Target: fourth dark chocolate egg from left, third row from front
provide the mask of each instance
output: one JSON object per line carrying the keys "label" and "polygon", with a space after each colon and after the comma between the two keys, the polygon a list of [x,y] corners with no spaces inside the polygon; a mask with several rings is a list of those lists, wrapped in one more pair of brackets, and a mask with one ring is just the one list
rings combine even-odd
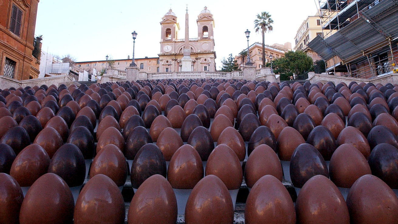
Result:
{"label": "fourth dark chocolate egg from left, third row from front", "polygon": [[213,138],[203,126],[193,129],[191,135],[189,135],[188,144],[198,151],[202,161],[207,161],[211,151],[214,149]]}

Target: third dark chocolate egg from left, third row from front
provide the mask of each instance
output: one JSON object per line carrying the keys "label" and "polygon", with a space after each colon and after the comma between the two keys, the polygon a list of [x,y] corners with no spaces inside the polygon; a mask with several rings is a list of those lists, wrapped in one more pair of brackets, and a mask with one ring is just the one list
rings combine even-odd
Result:
{"label": "third dark chocolate egg from left, third row from front", "polygon": [[127,160],[133,160],[140,148],[147,143],[152,143],[152,138],[150,137],[148,131],[146,131],[145,127],[142,126],[135,127],[130,132],[126,141]]}

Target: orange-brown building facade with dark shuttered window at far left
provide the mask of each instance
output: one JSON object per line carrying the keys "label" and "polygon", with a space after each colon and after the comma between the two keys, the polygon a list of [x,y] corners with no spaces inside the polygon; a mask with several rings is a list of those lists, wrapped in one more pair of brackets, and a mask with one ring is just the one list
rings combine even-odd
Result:
{"label": "orange-brown building facade with dark shuttered window at far left", "polygon": [[0,1],[0,75],[16,80],[39,77],[32,56],[39,0]]}

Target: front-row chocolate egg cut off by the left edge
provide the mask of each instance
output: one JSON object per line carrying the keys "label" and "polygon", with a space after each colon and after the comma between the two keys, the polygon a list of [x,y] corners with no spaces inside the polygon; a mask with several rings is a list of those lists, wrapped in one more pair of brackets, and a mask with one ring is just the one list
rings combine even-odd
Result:
{"label": "front-row chocolate egg cut off by the left edge", "polygon": [[0,220],[18,224],[23,194],[18,182],[6,173],[0,173]]}

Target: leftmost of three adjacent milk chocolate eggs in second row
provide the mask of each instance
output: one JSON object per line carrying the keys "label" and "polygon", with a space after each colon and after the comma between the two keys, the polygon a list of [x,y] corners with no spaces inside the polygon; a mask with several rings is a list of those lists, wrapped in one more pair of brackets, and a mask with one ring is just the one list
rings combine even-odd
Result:
{"label": "leftmost of three adjacent milk chocolate eggs in second row", "polygon": [[199,153],[185,144],[173,154],[167,169],[167,179],[174,189],[193,189],[203,173]]}

